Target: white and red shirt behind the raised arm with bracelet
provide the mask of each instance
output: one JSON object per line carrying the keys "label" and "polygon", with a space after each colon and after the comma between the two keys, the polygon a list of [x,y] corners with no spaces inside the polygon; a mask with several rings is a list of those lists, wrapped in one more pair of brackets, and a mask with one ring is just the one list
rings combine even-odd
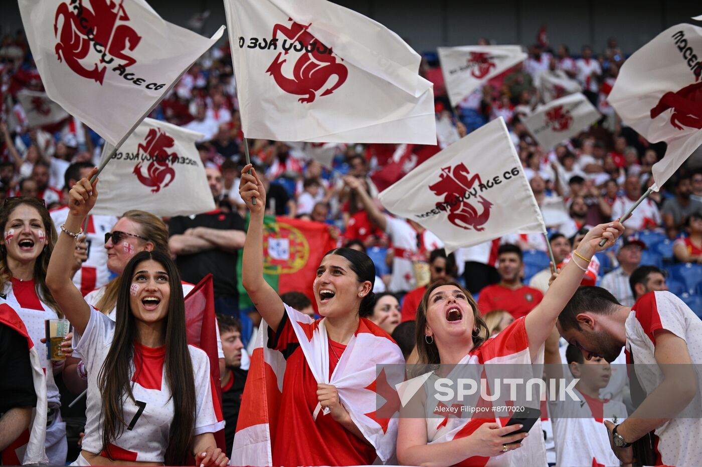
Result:
{"label": "white and red shirt behind the raised arm with bracelet", "polygon": [[[51,210],[51,220],[57,232],[66,222],[69,208],[63,207]],[[81,269],[73,276],[73,283],[86,295],[88,292],[102,287],[110,280],[110,271],[107,269],[107,250],[105,250],[105,234],[112,231],[117,222],[115,216],[88,215],[87,225],[83,226],[88,241],[88,259]]]}

